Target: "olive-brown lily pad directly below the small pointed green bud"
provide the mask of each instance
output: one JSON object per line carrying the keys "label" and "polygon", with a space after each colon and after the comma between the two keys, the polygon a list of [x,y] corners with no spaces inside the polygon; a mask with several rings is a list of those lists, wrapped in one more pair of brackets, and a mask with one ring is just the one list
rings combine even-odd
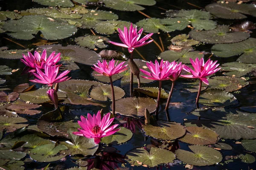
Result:
{"label": "olive-brown lily pad directly below the small pointed green bud", "polygon": [[176,122],[157,121],[157,124],[143,125],[145,134],[156,139],[175,140],[186,133],[186,129]]}

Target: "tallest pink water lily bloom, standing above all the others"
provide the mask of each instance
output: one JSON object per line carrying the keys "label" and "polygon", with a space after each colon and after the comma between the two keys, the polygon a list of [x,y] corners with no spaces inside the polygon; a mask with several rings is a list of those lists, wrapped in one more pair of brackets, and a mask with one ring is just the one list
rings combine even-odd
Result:
{"label": "tallest pink water lily bloom, standing above all the others", "polygon": [[137,32],[137,26],[134,28],[132,26],[132,23],[131,23],[129,31],[128,31],[127,27],[125,26],[124,32],[119,28],[118,28],[118,32],[119,32],[119,38],[123,42],[123,44],[118,43],[118,42],[113,42],[113,41],[109,41],[109,42],[113,45],[128,48],[129,53],[132,53],[134,48],[147,45],[148,43],[153,41],[153,40],[149,40],[146,42],[146,40],[148,40],[154,33],[145,35],[145,37],[140,39],[140,36],[143,32],[143,28],[141,28],[140,31]]}

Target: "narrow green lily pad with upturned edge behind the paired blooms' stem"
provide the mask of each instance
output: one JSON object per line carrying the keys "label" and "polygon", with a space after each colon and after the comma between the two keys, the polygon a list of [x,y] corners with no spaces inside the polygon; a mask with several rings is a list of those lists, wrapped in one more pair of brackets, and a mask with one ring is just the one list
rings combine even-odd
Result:
{"label": "narrow green lily pad with upturned edge behind the paired blooms' stem", "polygon": [[[138,91],[139,93],[143,93],[147,96],[151,97],[157,97],[158,96],[158,90],[159,88],[155,87],[141,87],[141,88],[134,88],[135,91]],[[166,91],[162,88],[161,89],[161,98],[162,99],[168,99],[169,94],[166,93]]]}

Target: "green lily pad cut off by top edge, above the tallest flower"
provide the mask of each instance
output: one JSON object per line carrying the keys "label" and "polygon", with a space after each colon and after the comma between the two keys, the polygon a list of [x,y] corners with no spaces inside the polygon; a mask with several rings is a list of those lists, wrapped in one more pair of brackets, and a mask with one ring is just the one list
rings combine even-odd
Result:
{"label": "green lily pad cut off by top edge, above the tallest flower", "polygon": [[155,0],[102,0],[108,8],[113,8],[120,11],[141,11],[143,8],[140,5],[153,6]]}

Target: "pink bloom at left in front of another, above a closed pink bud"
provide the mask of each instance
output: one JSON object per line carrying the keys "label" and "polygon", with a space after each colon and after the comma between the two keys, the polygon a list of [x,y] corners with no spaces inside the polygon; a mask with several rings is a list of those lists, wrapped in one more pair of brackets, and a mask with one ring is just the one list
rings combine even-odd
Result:
{"label": "pink bloom at left in front of another, above a closed pink bud", "polygon": [[[52,86],[57,82],[64,82],[71,77],[66,76],[70,71],[63,71],[58,77],[59,67],[56,65],[48,66],[47,64],[44,67],[44,72],[39,68],[36,68],[37,73],[33,72],[34,76],[37,79],[30,80],[31,82],[37,82],[41,84],[46,84],[48,86]],[[66,76],[66,77],[65,77]]]}

